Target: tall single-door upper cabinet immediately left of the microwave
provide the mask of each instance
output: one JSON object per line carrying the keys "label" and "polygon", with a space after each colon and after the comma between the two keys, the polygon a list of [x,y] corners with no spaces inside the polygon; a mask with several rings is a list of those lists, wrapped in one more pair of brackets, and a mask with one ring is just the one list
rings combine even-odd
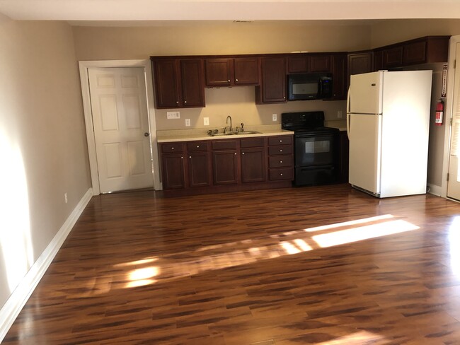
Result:
{"label": "tall single-door upper cabinet immediately left of the microwave", "polygon": [[263,57],[260,59],[261,85],[255,86],[255,103],[286,102],[286,59]]}

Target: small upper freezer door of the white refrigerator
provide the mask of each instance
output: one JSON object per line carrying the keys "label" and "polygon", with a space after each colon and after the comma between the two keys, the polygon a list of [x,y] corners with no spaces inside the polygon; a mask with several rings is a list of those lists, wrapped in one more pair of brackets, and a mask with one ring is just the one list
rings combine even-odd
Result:
{"label": "small upper freezer door of the white refrigerator", "polygon": [[350,76],[347,112],[381,114],[384,72]]}

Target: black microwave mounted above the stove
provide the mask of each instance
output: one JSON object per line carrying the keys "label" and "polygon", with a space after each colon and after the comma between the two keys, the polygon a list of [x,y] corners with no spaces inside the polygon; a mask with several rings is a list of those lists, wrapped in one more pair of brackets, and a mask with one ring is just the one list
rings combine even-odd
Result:
{"label": "black microwave mounted above the stove", "polygon": [[328,73],[288,74],[288,100],[321,100],[332,97],[332,75]]}

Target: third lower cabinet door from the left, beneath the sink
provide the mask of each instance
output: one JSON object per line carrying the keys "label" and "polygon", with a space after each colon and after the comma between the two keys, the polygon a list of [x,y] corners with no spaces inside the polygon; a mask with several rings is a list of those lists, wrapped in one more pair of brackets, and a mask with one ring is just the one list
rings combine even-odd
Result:
{"label": "third lower cabinet door from the left, beneath the sink", "polygon": [[214,185],[238,183],[238,156],[236,156],[236,151],[213,151],[212,169],[214,172]]}

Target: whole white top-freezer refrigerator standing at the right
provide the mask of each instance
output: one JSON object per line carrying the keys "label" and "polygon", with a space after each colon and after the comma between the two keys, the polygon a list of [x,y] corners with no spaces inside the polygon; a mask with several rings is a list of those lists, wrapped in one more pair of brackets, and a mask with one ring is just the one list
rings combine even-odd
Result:
{"label": "whole white top-freezer refrigerator standing at the right", "polygon": [[349,182],[375,197],[425,194],[432,71],[350,78]]}

